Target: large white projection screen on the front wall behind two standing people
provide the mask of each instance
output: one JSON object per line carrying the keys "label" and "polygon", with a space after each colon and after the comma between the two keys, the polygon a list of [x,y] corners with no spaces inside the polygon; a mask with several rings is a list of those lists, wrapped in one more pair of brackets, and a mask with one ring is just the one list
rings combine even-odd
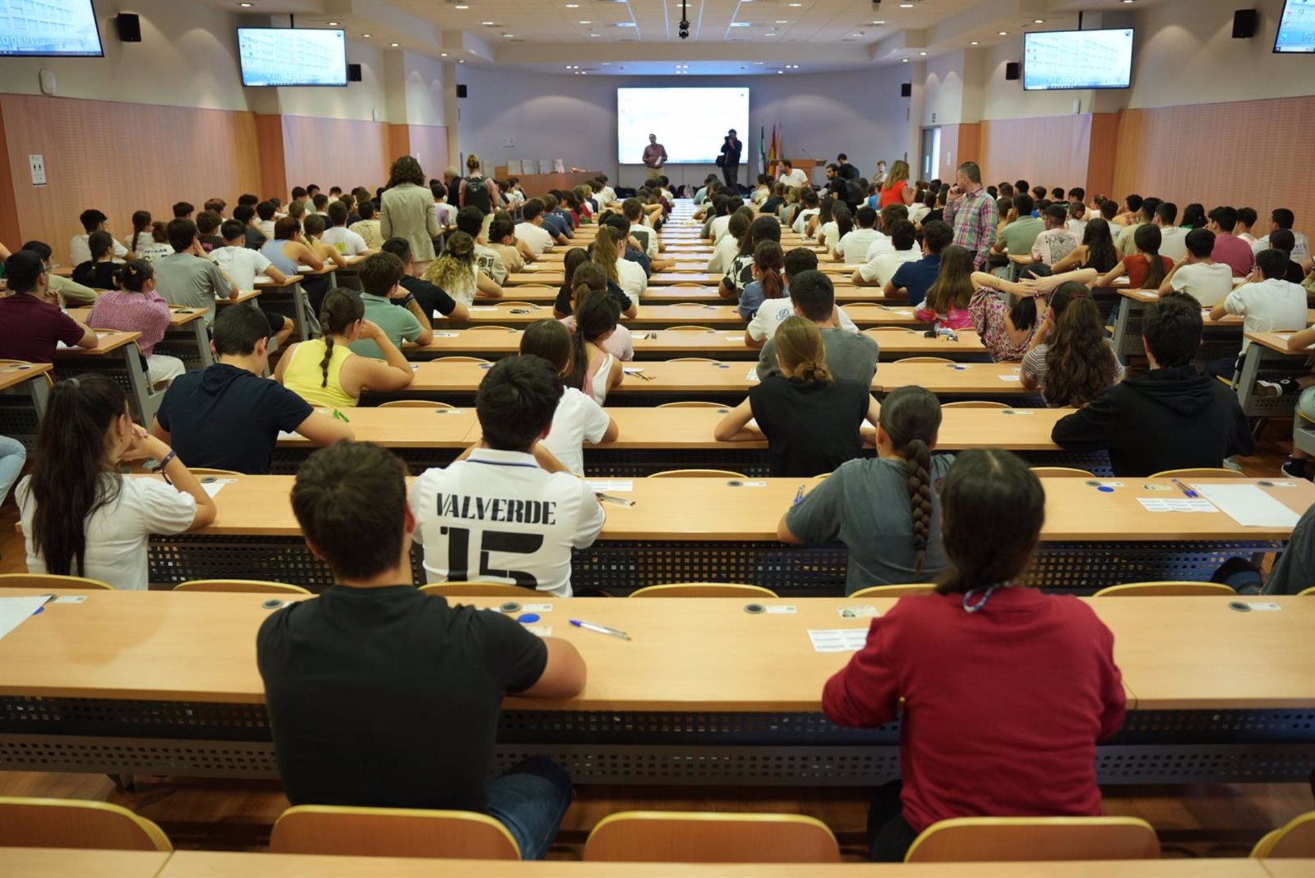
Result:
{"label": "large white projection screen on the front wall behind two standing people", "polygon": [[713,164],[732,127],[744,145],[743,162],[750,154],[748,88],[617,89],[617,160],[622,164],[643,160],[650,134],[667,147],[667,164]]}

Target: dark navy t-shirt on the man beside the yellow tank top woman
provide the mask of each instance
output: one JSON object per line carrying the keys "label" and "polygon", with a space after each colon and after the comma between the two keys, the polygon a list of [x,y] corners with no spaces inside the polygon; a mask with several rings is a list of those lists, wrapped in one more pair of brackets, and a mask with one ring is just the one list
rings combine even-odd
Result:
{"label": "dark navy t-shirt on the man beside the yellow tank top woman", "polygon": [[313,413],[277,381],[216,363],[174,379],[155,419],[188,467],[263,476],[279,431],[295,431]]}

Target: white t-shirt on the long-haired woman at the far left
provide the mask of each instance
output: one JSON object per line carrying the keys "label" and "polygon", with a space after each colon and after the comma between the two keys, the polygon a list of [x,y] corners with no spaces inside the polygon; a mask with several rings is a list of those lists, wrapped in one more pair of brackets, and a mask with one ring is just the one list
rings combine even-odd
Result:
{"label": "white t-shirt on the long-haired woman at the far left", "polygon": [[[196,520],[196,498],[160,478],[132,478],[107,473],[118,480],[118,498],[101,506],[87,519],[87,552],[83,576],[108,582],[116,589],[145,591],[149,585],[146,542],[151,534],[181,534]],[[45,573],[46,561],[33,549],[32,522],[37,503],[30,493],[32,477],[18,482],[14,498],[22,519],[22,539],[28,549],[28,572]],[[76,573],[76,570],[75,570]]]}

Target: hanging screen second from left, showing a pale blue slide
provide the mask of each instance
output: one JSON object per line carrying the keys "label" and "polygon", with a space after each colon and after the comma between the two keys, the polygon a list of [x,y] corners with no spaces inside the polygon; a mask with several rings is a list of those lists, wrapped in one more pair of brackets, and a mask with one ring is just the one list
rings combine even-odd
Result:
{"label": "hanging screen second from left, showing a pale blue slide", "polygon": [[243,85],[346,85],[342,30],[238,28]]}

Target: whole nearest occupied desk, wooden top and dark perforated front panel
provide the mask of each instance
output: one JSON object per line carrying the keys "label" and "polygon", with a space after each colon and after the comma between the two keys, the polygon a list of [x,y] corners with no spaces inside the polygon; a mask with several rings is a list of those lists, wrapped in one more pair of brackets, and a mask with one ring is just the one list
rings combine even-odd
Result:
{"label": "whole nearest occupied desk, wooden top and dark perforated front panel", "polygon": [[[0,640],[0,765],[276,777],[255,664],[268,595],[82,594],[85,602],[49,603]],[[1130,708],[1099,748],[1103,783],[1302,781],[1315,768],[1315,601],[1265,599],[1272,611],[1233,609],[1260,603],[1243,598],[1089,602],[1114,632]],[[568,701],[509,698],[497,770],[551,754],[579,783],[869,786],[898,777],[898,722],[838,728],[819,712],[823,683],[851,653],[817,652],[809,635],[864,631],[865,619],[840,612],[888,612],[894,599],[542,603],[540,624],[580,649],[589,680]]]}

